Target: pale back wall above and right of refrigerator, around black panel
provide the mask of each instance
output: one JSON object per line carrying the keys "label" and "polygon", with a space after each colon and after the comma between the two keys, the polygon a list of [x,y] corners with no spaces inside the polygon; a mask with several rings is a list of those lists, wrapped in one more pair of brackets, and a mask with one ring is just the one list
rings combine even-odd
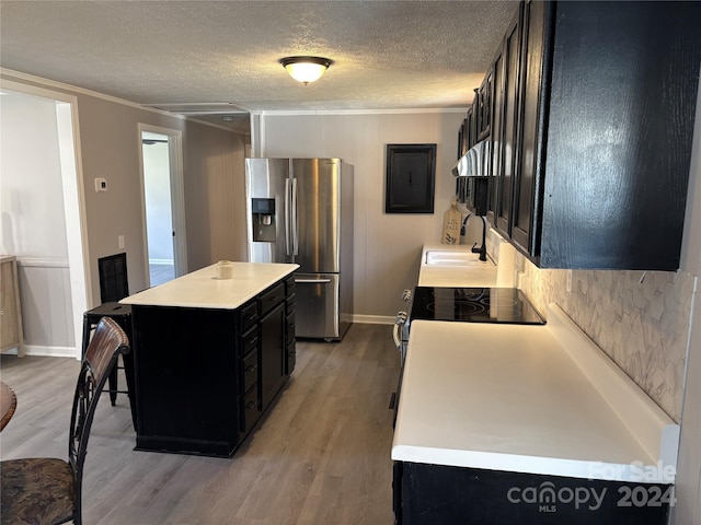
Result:
{"label": "pale back wall above and right of refrigerator, around black panel", "polygon": [[[416,283],[422,245],[440,242],[443,214],[455,195],[450,168],[463,118],[464,109],[261,117],[258,156],[330,156],[354,165],[356,320],[393,320],[401,291]],[[386,148],[392,143],[437,144],[433,214],[384,213]]]}

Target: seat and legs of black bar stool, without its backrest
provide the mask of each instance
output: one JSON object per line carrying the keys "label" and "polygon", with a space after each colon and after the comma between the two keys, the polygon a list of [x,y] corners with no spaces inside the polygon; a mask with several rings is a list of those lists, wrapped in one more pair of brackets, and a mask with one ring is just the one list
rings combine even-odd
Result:
{"label": "seat and legs of black bar stool, without its backrest", "polygon": [[[100,323],[100,319],[103,317],[114,319],[114,322],[126,332],[129,341],[131,340],[131,306],[128,304],[119,304],[117,302],[104,303],[83,314],[83,355],[88,349],[92,330],[97,326],[97,323]],[[134,347],[131,347],[131,351],[129,351],[129,353],[122,355],[122,361],[124,364],[124,375],[127,380],[127,389],[118,389],[117,366],[115,366],[110,374],[110,401],[114,407],[117,400],[117,394],[127,394],[129,397],[129,406],[131,408],[131,421],[134,422],[134,429],[136,430],[136,404],[134,401]]]}

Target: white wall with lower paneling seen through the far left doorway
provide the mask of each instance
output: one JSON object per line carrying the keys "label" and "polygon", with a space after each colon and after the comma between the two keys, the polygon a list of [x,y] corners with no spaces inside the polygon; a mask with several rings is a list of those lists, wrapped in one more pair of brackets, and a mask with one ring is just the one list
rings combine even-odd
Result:
{"label": "white wall with lower paneling seen through the far left doorway", "polygon": [[71,353],[76,342],[56,102],[2,95],[0,133],[0,249],[18,257],[27,352]]}

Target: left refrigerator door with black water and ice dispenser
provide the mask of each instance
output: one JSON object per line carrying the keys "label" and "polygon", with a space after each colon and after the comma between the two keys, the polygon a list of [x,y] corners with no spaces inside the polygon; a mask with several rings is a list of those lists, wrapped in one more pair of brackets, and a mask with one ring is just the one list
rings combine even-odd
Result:
{"label": "left refrigerator door with black water and ice dispenser", "polygon": [[291,262],[289,159],[246,159],[246,246],[251,262]]}

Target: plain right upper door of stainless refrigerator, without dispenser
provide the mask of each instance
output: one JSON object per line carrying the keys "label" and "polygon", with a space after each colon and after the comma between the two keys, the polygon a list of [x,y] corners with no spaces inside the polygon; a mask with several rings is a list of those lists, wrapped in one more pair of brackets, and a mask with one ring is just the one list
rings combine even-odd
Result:
{"label": "plain right upper door of stainless refrigerator, without dispenser", "polygon": [[300,271],[340,271],[340,159],[292,159],[297,196],[292,244]]}

